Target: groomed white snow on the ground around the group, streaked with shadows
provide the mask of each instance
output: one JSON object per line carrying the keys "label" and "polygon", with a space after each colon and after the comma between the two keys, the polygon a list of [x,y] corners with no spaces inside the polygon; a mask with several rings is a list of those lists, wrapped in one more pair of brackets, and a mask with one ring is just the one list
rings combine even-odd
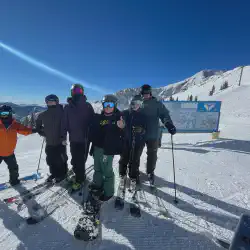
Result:
{"label": "groomed white snow on the ground around the group, streaked with shadows", "polygon": [[[55,199],[56,210],[36,225],[26,225],[23,221],[28,216],[26,208],[17,212],[15,205],[7,206],[0,201],[0,249],[221,249],[212,235],[230,242],[240,215],[250,211],[249,96],[250,84],[244,80],[241,87],[232,87],[213,97],[222,100],[219,139],[212,140],[211,134],[174,136],[178,204],[173,202],[171,140],[165,134],[155,172],[157,196],[143,182],[146,152],[142,155],[141,218],[129,214],[130,194],[127,192],[124,210],[116,211],[113,200],[103,205],[100,238],[87,243],[73,236],[81,214],[82,198],[78,194],[69,196],[65,192]],[[20,176],[36,171],[41,144],[38,135],[19,137],[16,157]],[[113,164],[116,187],[118,160],[119,157],[115,157]],[[86,167],[92,169],[92,163],[89,156]],[[7,167],[3,163],[0,169],[0,182],[4,182],[8,180]],[[41,172],[48,173],[44,152]],[[0,199],[34,185],[36,183],[30,181],[16,190],[1,191]],[[53,187],[38,196],[36,202],[48,204],[58,188]]]}

